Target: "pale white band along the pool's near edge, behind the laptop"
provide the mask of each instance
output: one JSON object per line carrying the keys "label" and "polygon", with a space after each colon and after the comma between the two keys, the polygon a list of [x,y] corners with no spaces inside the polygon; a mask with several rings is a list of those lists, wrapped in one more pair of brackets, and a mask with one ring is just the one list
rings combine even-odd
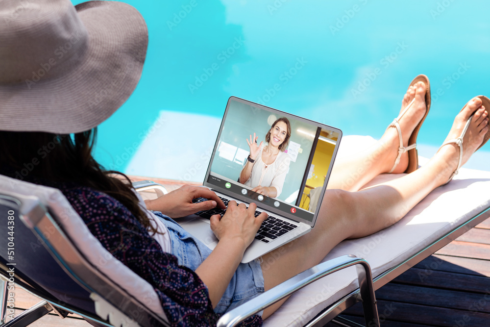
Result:
{"label": "pale white band along the pool's near edge, behind the laptop", "polygon": [[[125,173],[202,182],[220,124],[221,118],[160,111],[158,119],[131,158]],[[418,144],[417,150],[419,156],[430,158],[438,147]],[[490,171],[490,152],[477,151],[465,164],[465,168]]]}

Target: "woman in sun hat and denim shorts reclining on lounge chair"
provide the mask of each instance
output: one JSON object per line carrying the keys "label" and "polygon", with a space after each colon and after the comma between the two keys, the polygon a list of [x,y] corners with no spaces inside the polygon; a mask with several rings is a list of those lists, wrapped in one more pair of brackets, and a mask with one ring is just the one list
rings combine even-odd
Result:
{"label": "woman in sun hat and denim shorts reclining on lounge chair", "polygon": [[[473,98],[440,150],[418,168],[412,144],[429,111],[430,90],[427,78],[417,76],[381,139],[336,162],[325,192],[329,206],[320,208],[314,230],[294,246],[264,255],[267,265],[241,264],[267,216],[254,217],[255,204],[246,209],[230,201],[221,219],[211,217],[220,240],[211,252],[169,217],[224,208],[216,194],[184,186],[147,201],[146,208],[129,183],[104,171],[91,155],[96,126],[127,100],[141,76],[143,18],[120,2],[36,2],[19,11],[7,1],[0,12],[0,174],[59,188],[102,245],[154,286],[174,325],[213,325],[224,312],[316,265],[342,240],[394,224],[450,181],[490,136],[490,102]],[[389,172],[409,174],[360,190]],[[196,197],[210,200],[192,203]],[[260,325],[281,303],[247,323]]]}

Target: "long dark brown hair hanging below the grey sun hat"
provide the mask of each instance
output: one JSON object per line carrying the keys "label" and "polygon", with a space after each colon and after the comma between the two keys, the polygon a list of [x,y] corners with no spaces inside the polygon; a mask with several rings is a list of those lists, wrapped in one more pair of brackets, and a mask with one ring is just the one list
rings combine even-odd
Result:
{"label": "long dark brown hair hanging below the grey sun hat", "polygon": [[139,206],[129,178],[104,170],[92,156],[96,136],[97,127],[75,134],[0,131],[0,174],[96,189],[120,201],[146,228],[157,232]]}

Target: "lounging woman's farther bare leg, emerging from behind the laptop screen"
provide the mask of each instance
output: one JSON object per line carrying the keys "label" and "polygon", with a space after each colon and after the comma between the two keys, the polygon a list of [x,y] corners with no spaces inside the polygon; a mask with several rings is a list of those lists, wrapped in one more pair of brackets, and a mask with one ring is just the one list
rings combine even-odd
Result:
{"label": "lounging woman's farther bare leg, emerging from behind the laptop screen", "polygon": [[[423,82],[418,82],[410,86],[403,97],[400,112],[415,98],[414,104],[399,122],[404,147],[409,145],[410,135],[425,114],[425,90],[426,85]],[[335,161],[327,188],[358,191],[374,177],[388,173],[392,169],[398,155],[398,147],[398,132],[395,127],[388,127],[381,139],[371,147],[348,157],[338,158]],[[393,173],[403,173],[407,166],[408,153],[405,152]]]}

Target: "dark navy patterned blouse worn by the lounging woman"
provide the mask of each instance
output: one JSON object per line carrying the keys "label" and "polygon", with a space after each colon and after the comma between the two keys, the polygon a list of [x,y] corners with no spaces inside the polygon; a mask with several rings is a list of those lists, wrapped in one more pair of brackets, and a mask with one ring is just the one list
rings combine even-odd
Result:
{"label": "dark navy patterned blouse worn by the lounging woman", "polygon": [[[46,184],[46,183],[45,183]],[[153,239],[136,217],[110,196],[88,187],[52,184],[60,189],[102,245],[155,288],[172,326],[216,326],[208,290],[196,273]],[[241,326],[262,326],[253,316]]]}

